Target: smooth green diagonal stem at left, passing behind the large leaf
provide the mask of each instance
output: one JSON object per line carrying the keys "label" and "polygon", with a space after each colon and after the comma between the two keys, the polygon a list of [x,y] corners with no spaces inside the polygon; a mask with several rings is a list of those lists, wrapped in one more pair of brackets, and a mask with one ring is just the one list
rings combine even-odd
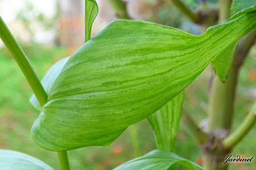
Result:
{"label": "smooth green diagonal stem at left, passing behind the large leaf", "polygon": [[[18,42],[14,39],[14,36],[11,34],[10,30],[6,26],[5,22],[0,16],[0,38],[5,44],[6,48],[13,55],[15,61],[18,63],[20,70],[26,77],[28,84],[32,88],[36,99],[38,99],[40,105],[43,107],[44,104],[47,103],[47,94],[44,90],[42,84],[40,83],[38,76],[36,76],[33,67],[28,61],[26,54],[23,52],[22,48],[20,48]],[[67,152],[58,152],[58,156],[60,160],[61,170],[69,169]]]}

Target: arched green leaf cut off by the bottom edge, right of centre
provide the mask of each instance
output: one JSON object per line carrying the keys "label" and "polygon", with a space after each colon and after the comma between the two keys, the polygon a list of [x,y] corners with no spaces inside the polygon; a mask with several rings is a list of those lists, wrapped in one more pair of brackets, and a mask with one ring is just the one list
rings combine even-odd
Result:
{"label": "arched green leaf cut off by the bottom edge, right of centre", "polygon": [[139,158],[130,160],[114,170],[168,170],[175,164],[181,164],[187,170],[203,170],[204,168],[168,151],[154,150]]}

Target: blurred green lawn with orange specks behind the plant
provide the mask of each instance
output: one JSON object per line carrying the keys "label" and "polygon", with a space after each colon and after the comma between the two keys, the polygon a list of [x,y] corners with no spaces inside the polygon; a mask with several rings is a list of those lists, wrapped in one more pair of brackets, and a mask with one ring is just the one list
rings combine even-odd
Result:
{"label": "blurred green lawn with orange specks behind the plant", "polygon": [[[66,57],[67,49],[57,46],[42,46],[32,44],[23,46],[24,52],[34,66],[39,79],[42,79],[48,68]],[[250,110],[256,97],[256,48],[246,59],[240,74],[238,94],[236,96],[236,115],[233,129],[241,122]],[[206,84],[212,68],[209,66],[185,91],[184,106],[193,118],[201,124],[207,118],[208,90]],[[30,128],[38,117],[39,112],[34,109],[28,100],[32,91],[26,79],[16,65],[7,49],[0,49],[0,148],[16,150],[35,156],[36,158],[59,169],[55,152],[43,150],[32,141]],[[254,95],[253,92],[254,91]],[[135,124],[138,131],[139,146],[142,154],[155,149],[154,135],[146,120]],[[250,134],[234,149],[233,156],[255,156],[256,130]],[[201,164],[201,152],[192,139],[184,132],[183,126],[177,134],[176,153],[181,157]],[[68,151],[71,169],[113,169],[118,165],[134,158],[129,131],[125,131],[112,145],[106,147],[85,147]],[[256,161],[232,165],[230,169],[253,169]]]}

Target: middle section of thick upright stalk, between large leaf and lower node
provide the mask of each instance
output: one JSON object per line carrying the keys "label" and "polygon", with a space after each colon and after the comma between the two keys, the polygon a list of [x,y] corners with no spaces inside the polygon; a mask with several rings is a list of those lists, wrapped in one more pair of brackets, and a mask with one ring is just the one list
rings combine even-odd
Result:
{"label": "middle section of thick upright stalk, between large leaf and lower node", "polygon": [[209,99],[209,131],[230,130],[234,113],[237,77],[238,70],[232,63],[225,84],[217,76],[214,78]]}

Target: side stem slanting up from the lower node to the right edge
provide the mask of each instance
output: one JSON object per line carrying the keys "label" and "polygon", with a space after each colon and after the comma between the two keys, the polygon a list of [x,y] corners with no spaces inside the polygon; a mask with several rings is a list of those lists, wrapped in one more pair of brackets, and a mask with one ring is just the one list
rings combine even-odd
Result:
{"label": "side stem slanting up from the lower node to the right edge", "polygon": [[247,133],[249,133],[250,129],[253,128],[253,125],[256,122],[256,103],[251,109],[249,115],[243,120],[243,122],[238,126],[238,128],[234,131],[234,133],[230,134],[223,141],[223,147],[225,149],[233,148],[238,142],[241,141],[243,137]]}

